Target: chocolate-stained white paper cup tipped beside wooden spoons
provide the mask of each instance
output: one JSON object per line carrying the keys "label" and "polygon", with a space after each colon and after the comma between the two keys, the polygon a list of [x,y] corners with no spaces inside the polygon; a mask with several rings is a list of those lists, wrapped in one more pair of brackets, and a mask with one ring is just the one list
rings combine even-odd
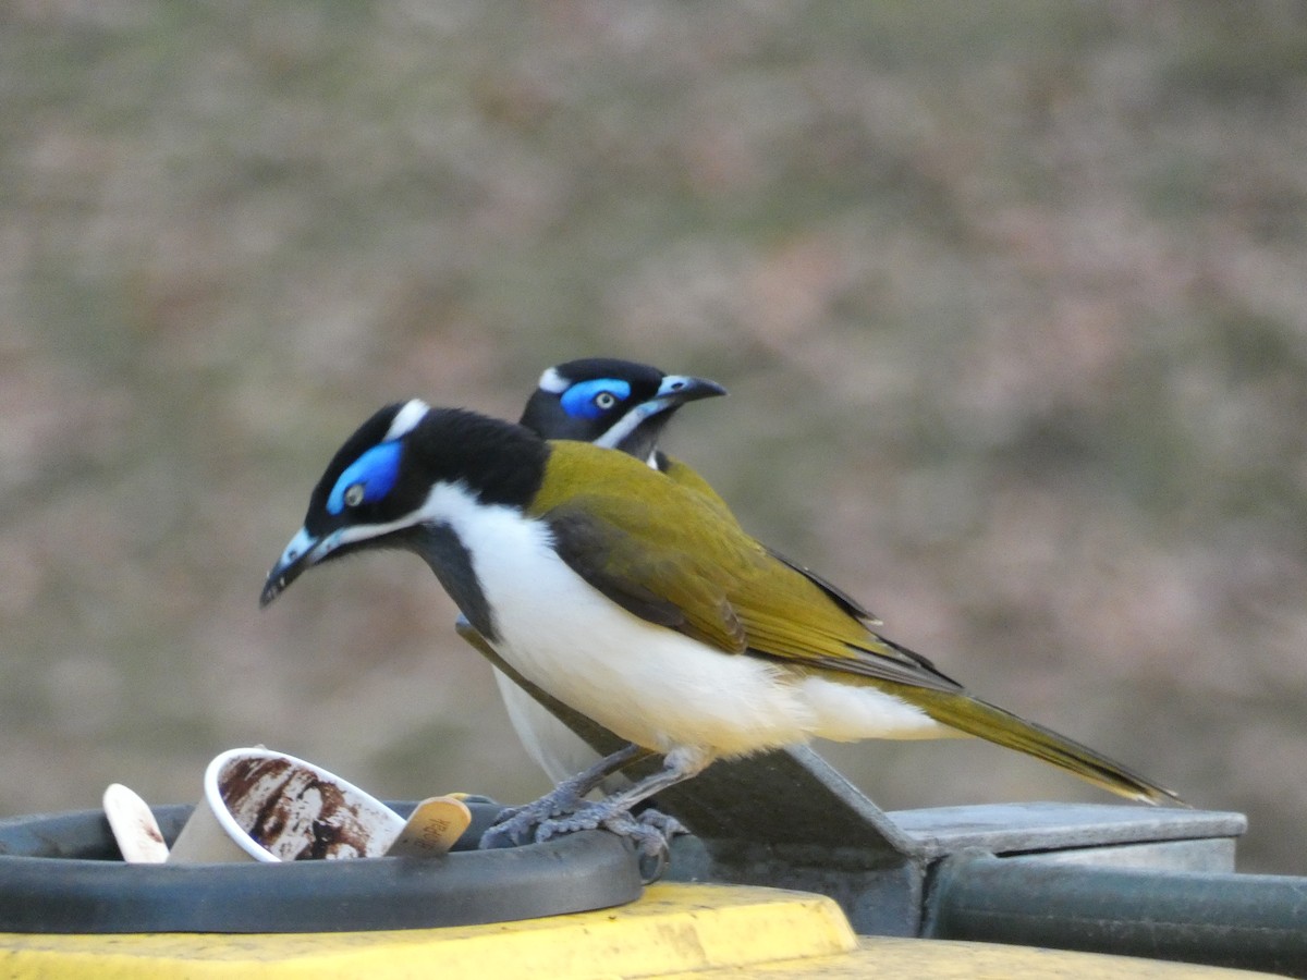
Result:
{"label": "chocolate-stained white paper cup tipped beside wooden spoons", "polygon": [[173,864],[380,857],[404,818],[311,762],[233,749],[204,771],[204,796],[169,852]]}

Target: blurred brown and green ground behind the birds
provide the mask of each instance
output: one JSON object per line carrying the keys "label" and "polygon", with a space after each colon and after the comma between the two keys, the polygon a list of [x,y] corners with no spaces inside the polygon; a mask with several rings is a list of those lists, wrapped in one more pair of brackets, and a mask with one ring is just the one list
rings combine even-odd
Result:
{"label": "blurred brown and green ground behind the birds", "polygon": [[416,559],[256,597],[378,405],[613,354],[729,387],[672,448],[891,636],[1307,873],[1297,0],[8,0],[0,114],[0,814],[250,742],[544,791]]}

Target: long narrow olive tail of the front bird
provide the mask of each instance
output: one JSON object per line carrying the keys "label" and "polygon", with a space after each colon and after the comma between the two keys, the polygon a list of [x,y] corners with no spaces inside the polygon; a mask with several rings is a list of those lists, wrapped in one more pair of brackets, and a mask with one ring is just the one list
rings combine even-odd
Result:
{"label": "long narrow olive tail of the front bird", "polygon": [[920,691],[914,700],[931,717],[949,728],[1034,755],[1108,792],[1154,806],[1188,806],[1170,789],[1150,783],[1089,746],[978,698],[946,691]]}

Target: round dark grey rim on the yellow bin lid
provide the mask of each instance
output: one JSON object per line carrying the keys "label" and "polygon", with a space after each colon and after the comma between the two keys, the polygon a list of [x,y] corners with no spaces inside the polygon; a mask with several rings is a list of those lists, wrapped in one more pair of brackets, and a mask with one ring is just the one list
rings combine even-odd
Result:
{"label": "round dark grey rim on the yellow bin lid", "polygon": [[[473,849],[284,864],[127,865],[98,810],[0,821],[0,932],[423,929],[609,908],[642,894],[634,849],[614,835],[476,851],[499,808],[471,808],[457,847]],[[165,838],[190,810],[154,809]]]}

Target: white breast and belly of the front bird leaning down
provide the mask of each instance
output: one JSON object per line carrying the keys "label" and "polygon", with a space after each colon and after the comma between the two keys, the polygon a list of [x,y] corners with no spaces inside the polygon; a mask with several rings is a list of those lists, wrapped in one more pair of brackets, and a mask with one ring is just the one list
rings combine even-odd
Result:
{"label": "white breast and belly of the front bird leaning down", "polygon": [[423,510],[468,549],[494,610],[501,656],[627,741],[660,753],[693,746],[715,758],[812,736],[948,733],[874,689],[804,681],[627,613],[567,567],[545,524],[514,508],[477,504],[464,489],[442,485]]}

